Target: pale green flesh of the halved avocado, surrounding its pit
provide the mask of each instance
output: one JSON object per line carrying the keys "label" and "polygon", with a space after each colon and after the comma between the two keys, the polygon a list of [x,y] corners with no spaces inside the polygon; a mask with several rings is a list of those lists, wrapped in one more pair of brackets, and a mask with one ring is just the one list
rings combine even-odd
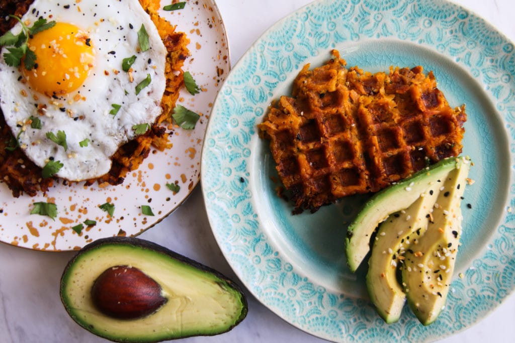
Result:
{"label": "pale green flesh of the halved avocado, surrounding its pit", "polygon": [[[107,268],[129,265],[162,287],[155,313],[117,319],[95,308],[91,288]],[[156,342],[229,331],[247,314],[245,296],[230,280],[164,247],[135,238],[109,238],[84,247],[61,278],[61,300],[83,328],[113,341]]]}

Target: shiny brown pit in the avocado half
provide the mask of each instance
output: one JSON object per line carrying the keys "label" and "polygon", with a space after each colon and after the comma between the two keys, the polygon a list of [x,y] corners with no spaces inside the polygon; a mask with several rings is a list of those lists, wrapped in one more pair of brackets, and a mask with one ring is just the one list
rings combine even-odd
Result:
{"label": "shiny brown pit in the avocado half", "polygon": [[167,299],[155,280],[140,269],[117,265],[94,281],[91,299],[102,313],[116,319],[138,319],[161,308]]}

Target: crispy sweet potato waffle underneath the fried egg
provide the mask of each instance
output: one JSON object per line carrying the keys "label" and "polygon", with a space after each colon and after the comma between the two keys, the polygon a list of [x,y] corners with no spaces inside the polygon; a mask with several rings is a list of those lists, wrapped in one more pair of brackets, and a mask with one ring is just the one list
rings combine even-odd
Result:
{"label": "crispy sweet potato waffle underneath the fried egg", "polygon": [[[0,0],[0,15],[6,18],[9,14],[22,16],[33,0],[4,1]],[[120,147],[112,156],[111,170],[98,178],[87,180],[85,186],[94,183],[119,185],[124,182],[126,174],[138,169],[148,156],[152,147],[158,150],[169,148],[168,133],[160,125],[170,122],[171,114],[179,97],[179,89],[184,85],[182,66],[188,56],[186,34],[176,32],[175,27],[158,15],[159,0],[140,0],[140,4],[150,15],[157,26],[161,39],[166,47],[166,88],[161,101],[163,114],[152,125],[152,130],[138,136]],[[3,35],[16,23],[15,19],[0,21],[0,35]],[[42,178],[41,168],[28,159],[21,149],[10,150],[12,146],[11,130],[5,122],[0,109],[0,182],[7,184],[14,197],[22,194],[35,196],[38,192],[46,192],[56,181],[68,184],[70,182],[57,177]],[[6,149],[7,148],[7,149]]]}

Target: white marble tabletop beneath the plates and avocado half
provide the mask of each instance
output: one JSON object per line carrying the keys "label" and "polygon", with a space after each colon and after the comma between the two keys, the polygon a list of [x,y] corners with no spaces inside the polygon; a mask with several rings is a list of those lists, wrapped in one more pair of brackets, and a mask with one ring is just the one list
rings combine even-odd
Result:
{"label": "white marble tabletop beneath the plates and avocado half", "polygon": [[[431,1],[431,0],[427,0]],[[454,0],[515,41],[513,0]],[[310,0],[218,0],[235,63],[270,25]],[[199,186],[200,187],[200,186]],[[177,211],[141,238],[158,242],[236,278],[213,238],[200,188]],[[39,252],[0,244],[0,342],[104,342],[68,317],[59,299],[59,279],[73,252]],[[248,292],[247,292],[248,294]],[[281,320],[251,295],[247,318],[229,333],[180,342],[322,342]],[[441,342],[513,341],[515,294],[475,326]]]}

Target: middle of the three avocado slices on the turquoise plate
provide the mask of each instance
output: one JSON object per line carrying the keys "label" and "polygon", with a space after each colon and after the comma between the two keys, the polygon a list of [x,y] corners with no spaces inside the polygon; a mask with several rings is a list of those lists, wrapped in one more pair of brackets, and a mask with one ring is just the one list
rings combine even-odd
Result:
{"label": "middle of the three avocado slices on the turquoise plate", "polygon": [[367,289],[377,313],[387,323],[399,320],[406,295],[397,280],[397,266],[411,241],[427,229],[428,215],[441,183],[435,182],[406,210],[390,214],[381,223],[368,260]]}

